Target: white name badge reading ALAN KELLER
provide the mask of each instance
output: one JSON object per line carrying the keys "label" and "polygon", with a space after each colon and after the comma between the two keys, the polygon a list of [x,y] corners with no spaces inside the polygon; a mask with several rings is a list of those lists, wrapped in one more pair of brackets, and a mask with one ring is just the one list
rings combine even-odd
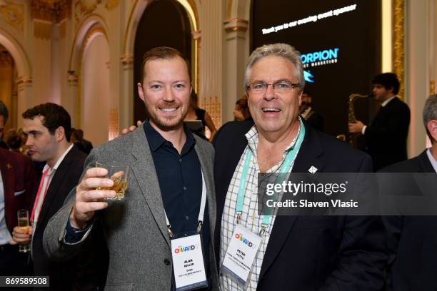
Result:
{"label": "white name badge reading ALAN KELLER", "polygon": [[207,287],[204,255],[199,234],[171,240],[176,290]]}

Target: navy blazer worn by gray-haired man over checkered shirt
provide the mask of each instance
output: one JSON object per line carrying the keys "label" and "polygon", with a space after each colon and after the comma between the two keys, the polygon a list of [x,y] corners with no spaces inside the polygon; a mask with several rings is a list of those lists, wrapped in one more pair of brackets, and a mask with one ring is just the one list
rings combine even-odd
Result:
{"label": "navy blazer worn by gray-haired man over checkered shirt", "polygon": [[[226,193],[252,125],[226,123],[214,139],[217,256]],[[306,126],[292,171],[307,173],[311,165],[326,173],[372,170],[368,155]],[[277,216],[257,290],[380,290],[386,262],[383,238],[377,217]]]}

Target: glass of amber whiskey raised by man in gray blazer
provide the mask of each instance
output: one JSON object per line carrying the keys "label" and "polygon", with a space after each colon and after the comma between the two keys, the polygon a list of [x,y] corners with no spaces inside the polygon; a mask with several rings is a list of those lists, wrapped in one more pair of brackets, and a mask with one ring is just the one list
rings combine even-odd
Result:
{"label": "glass of amber whiskey raised by man in gray blazer", "polygon": [[115,197],[107,199],[123,199],[124,192],[127,188],[129,165],[105,165],[104,163],[97,162],[96,167],[108,170],[108,174],[105,176],[105,178],[109,178],[114,181],[114,185],[111,187],[98,187],[97,190],[114,190],[116,192]]}

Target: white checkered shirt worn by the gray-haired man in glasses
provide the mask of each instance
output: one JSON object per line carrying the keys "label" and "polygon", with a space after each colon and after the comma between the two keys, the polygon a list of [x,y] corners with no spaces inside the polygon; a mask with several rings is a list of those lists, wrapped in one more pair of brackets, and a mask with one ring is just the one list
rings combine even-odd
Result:
{"label": "white checkered shirt worn by the gray-haired man in glasses", "polygon": [[[299,118],[299,131],[303,123]],[[298,134],[296,138],[291,141],[291,144],[283,151],[282,160],[273,165],[272,168],[268,169],[266,173],[279,173],[281,165],[285,160],[286,154],[293,148],[297,141]],[[238,162],[236,171],[233,173],[231,184],[228,188],[228,193],[226,195],[225,205],[223,208],[223,215],[221,217],[221,245],[220,245],[220,262],[223,262],[224,255],[228,249],[229,241],[231,240],[233,230],[236,226],[236,200],[238,196],[238,187],[241,184],[241,172],[243,171],[244,161],[246,159],[247,150],[252,151],[252,160],[249,163],[248,177],[246,184],[246,191],[244,193],[243,200],[243,213],[241,214],[241,225],[251,230],[253,233],[259,233],[261,230],[261,223],[263,221],[263,216],[258,215],[258,173],[260,172],[256,148],[258,146],[258,131],[256,131],[255,126],[253,126],[247,133],[246,138],[248,141],[248,146],[241,155],[240,161]],[[294,159],[291,163],[291,169],[293,168]],[[271,183],[275,182],[275,175],[272,175],[273,180]],[[288,177],[287,177],[288,178]],[[270,224],[266,228],[266,233],[263,235],[263,240],[261,241],[261,246],[258,249],[258,255],[256,256],[255,262],[253,263],[253,268],[249,274],[249,282],[247,285],[247,290],[256,290],[258,285],[258,277],[261,272],[261,265],[263,263],[263,258],[266,253],[266,248],[268,240],[271,235],[271,230],[273,228],[273,223],[275,222],[276,215],[271,215]],[[226,272],[221,273],[220,277],[220,290],[221,291],[233,291],[233,290],[245,290],[240,283],[237,283],[233,277],[228,275]]]}

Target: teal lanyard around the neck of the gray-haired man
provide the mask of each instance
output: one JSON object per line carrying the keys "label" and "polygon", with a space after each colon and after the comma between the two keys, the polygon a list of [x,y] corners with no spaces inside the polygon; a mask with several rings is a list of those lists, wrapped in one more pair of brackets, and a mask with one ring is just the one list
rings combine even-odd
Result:
{"label": "teal lanyard around the neck of the gray-haired man", "polygon": [[[303,124],[301,123],[300,127],[301,128],[298,133],[297,141],[294,144],[293,148],[286,154],[286,158],[281,165],[281,169],[279,170],[278,176],[276,177],[275,180],[276,184],[283,183],[283,181],[286,179],[288,171],[291,168],[291,163],[293,163],[293,160],[296,159],[297,152],[299,148],[301,148],[303,137],[305,136],[305,126],[303,126]],[[238,188],[238,196],[236,200],[237,223],[240,223],[241,213],[243,213],[244,193],[246,193],[247,178],[248,178],[247,172],[248,172],[251,158],[252,158],[252,150],[249,147],[246,152],[246,156],[244,158],[243,170],[241,172],[240,188]],[[261,223],[261,230],[259,232],[259,235],[263,235],[263,233],[266,232],[266,228],[270,224],[270,220],[271,220],[271,215],[263,215],[263,221]]]}

